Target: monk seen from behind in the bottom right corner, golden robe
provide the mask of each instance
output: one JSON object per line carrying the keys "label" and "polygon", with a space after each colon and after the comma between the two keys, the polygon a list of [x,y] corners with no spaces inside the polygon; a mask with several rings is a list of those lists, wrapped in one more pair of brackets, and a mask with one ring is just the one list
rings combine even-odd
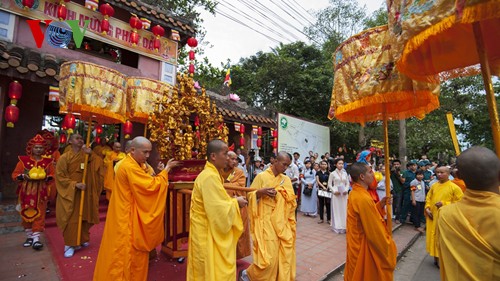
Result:
{"label": "monk seen from behind in the bottom right corner, golden robe", "polygon": [[457,164],[467,190],[439,211],[441,280],[500,280],[500,160],[476,146],[462,152]]}

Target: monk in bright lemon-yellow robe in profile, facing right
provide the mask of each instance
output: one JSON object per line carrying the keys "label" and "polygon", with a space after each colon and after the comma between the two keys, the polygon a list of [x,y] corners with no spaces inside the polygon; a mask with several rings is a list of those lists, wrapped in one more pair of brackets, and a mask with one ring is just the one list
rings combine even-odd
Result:
{"label": "monk in bright lemon-yellow robe in profile, facing right", "polygon": [[205,169],[194,182],[191,195],[186,280],[234,281],[236,244],[243,231],[240,208],[244,197],[231,198],[219,170],[226,166],[227,144],[208,143]]}

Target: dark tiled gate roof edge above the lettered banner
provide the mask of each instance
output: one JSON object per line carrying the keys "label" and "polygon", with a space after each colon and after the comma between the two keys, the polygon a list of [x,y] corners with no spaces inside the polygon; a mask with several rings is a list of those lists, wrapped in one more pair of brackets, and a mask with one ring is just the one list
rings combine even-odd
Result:
{"label": "dark tiled gate roof edge above the lettered banner", "polygon": [[188,37],[195,35],[196,31],[192,27],[193,23],[176,17],[166,11],[160,10],[158,7],[153,7],[151,5],[142,3],[138,0],[107,0],[111,5],[116,5],[117,7],[123,8],[131,13],[137,14],[140,18],[147,18],[160,25],[165,25],[171,29],[177,30],[180,33],[184,33],[187,37],[182,38],[187,40]]}

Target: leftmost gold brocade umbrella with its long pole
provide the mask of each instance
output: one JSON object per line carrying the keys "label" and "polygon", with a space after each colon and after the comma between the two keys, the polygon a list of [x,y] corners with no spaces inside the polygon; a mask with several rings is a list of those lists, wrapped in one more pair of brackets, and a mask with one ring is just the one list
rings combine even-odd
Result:
{"label": "leftmost gold brocade umbrella with its long pole", "polygon": [[[87,147],[90,145],[92,119],[102,123],[125,122],[125,75],[100,65],[70,61],[61,65],[60,76],[59,111],[79,113],[82,119],[89,120]],[[84,184],[87,177],[88,158],[89,155],[86,154],[82,179]],[[85,190],[82,190],[78,219],[78,245],[81,239],[84,197]]]}

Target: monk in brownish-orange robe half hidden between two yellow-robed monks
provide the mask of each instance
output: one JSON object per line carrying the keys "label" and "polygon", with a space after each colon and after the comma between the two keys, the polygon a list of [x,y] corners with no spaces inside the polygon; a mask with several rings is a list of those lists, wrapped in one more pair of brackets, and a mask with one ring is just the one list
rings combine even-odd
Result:
{"label": "monk in brownish-orange robe half hidden between two yellow-robed monks", "polygon": [[[227,153],[227,164],[224,169],[221,169],[219,173],[224,179],[224,187],[227,186],[237,186],[245,187],[246,177],[242,169],[238,168],[238,155],[233,151]],[[245,196],[246,192],[236,191],[231,189],[226,189],[229,196]],[[238,245],[236,246],[236,259],[242,259],[252,254],[252,248],[250,246],[250,229],[248,223],[248,210],[247,207],[240,209],[241,219],[243,221],[243,234],[241,234],[238,240]]]}

